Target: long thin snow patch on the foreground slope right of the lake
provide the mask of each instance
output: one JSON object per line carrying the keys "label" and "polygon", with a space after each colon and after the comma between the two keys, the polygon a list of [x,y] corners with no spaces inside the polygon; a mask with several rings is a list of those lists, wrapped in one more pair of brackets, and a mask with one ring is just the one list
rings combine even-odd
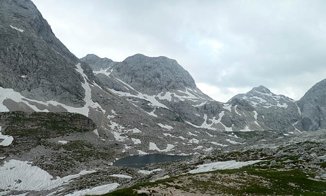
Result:
{"label": "long thin snow patch on the foreground slope right of the lake", "polygon": [[261,160],[249,160],[244,162],[243,161],[237,162],[235,160],[228,160],[228,161],[212,162],[212,163],[198,165],[197,169],[190,170],[189,173],[196,174],[200,172],[210,172],[219,169],[237,169],[260,161]]}

